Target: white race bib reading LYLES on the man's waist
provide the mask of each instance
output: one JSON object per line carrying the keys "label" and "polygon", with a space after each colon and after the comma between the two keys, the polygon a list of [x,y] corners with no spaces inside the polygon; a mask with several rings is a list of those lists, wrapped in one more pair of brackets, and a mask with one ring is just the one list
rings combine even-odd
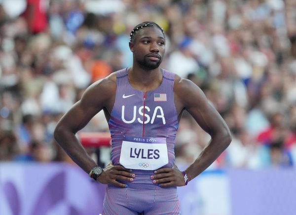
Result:
{"label": "white race bib reading LYLES on the man's waist", "polygon": [[119,163],[125,168],[156,170],[168,162],[165,138],[124,137]]}

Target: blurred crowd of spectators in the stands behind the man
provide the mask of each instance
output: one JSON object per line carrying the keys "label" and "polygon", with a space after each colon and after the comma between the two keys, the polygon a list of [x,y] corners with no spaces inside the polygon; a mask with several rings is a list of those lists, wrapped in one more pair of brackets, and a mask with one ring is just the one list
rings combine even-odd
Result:
{"label": "blurred crowd of spectators in the stands behind the man", "polygon": [[[94,81],[129,67],[129,34],[165,31],[162,67],[195,82],[232,143],[212,167],[296,165],[296,1],[0,0],[0,161],[69,161],[59,118]],[[82,130],[108,132],[103,113]],[[209,142],[185,112],[176,162]]]}

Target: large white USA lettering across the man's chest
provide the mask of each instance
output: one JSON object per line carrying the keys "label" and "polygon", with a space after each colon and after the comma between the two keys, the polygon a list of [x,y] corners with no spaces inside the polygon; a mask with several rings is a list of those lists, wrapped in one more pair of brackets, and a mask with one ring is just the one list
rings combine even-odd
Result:
{"label": "large white USA lettering across the man's chest", "polygon": [[[163,109],[162,109],[162,107],[160,107],[160,106],[157,106],[157,107],[155,107],[155,109],[153,110],[153,114],[152,114],[152,118],[151,118],[151,121],[150,121],[150,115],[148,114],[148,112],[150,112],[150,108],[148,107],[148,106],[145,106],[145,115],[144,115],[144,111],[143,111],[143,109],[144,109],[144,106],[141,106],[141,107],[139,107],[139,109],[138,109],[138,112],[139,112],[139,114],[141,115],[141,116],[144,116],[145,117],[145,122],[144,122],[144,124],[147,124],[147,123],[151,123],[151,124],[153,124],[154,123],[154,120],[155,120],[155,117],[157,117],[157,118],[161,118],[162,119],[162,123],[165,125],[165,118],[164,118],[164,112],[163,112]],[[127,112],[127,113],[125,113],[125,111]],[[131,113],[131,111],[130,110],[125,110],[125,106],[122,106],[121,107],[121,119],[122,119],[122,121],[123,122],[125,122],[125,123],[133,123],[133,122],[135,122],[136,121],[136,115],[137,115],[137,106],[134,106],[134,108],[133,108],[133,114],[130,114]],[[132,116],[132,117],[129,117],[130,119],[126,119],[126,115],[127,114],[130,114],[130,116]],[[137,118],[137,121],[139,122],[139,123],[141,123],[141,124],[143,124],[143,121],[142,121],[142,119],[143,119],[143,117],[142,118],[140,118],[140,117],[138,117]]]}

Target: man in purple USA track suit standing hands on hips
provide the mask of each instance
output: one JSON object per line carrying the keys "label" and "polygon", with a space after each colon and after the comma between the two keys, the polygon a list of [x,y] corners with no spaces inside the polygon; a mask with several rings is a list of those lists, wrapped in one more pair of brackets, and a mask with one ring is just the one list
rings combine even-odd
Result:
{"label": "man in purple USA track suit standing hands on hips", "polygon": [[[85,172],[108,184],[106,215],[179,215],[177,186],[203,172],[231,141],[229,129],[191,81],[159,68],[165,35],[153,22],[131,32],[133,65],[93,83],[59,121],[55,139]],[[109,123],[112,165],[102,170],[75,133],[101,109]],[[184,172],[174,165],[178,123],[187,110],[212,140]]]}

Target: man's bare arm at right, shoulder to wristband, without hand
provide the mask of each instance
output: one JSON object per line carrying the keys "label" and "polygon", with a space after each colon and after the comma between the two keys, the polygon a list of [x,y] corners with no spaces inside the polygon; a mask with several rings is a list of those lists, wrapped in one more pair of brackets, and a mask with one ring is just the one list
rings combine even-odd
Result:
{"label": "man's bare arm at right, shoulder to wristband, without hand", "polygon": [[191,180],[208,168],[227,148],[231,142],[231,135],[221,115],[210,105],[202,90],[193,82],[178,78],[175,80],[174,91],[177,108],[185,108],[199,126],[211,135],[210,143],[185,170],[188,180]]}

